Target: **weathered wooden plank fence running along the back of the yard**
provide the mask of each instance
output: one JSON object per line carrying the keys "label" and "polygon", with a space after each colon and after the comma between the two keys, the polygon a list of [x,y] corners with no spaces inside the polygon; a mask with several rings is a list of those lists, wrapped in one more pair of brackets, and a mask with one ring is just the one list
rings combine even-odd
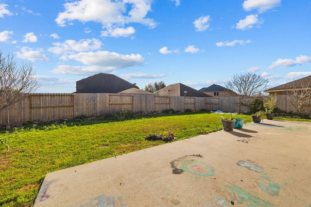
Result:
{"label": "weathered wooden plank fence running along the back of the yard", "polygon": [[[160,112],[167,109],[184,111],[221,110],[248,112],[248,103],[255,97],[179,97],[136,94],[30,94],[17,103],[0,111],[0,125],[21,124],[28,121],[51,121],[74,118],[79,115],[101,116],[117,110],[135,113]],[[278,96],[276,107],[295,111],[286,95]],[[2,105],[5,100],[0,100]],[[311,106],[307,106],[309,113]]]}

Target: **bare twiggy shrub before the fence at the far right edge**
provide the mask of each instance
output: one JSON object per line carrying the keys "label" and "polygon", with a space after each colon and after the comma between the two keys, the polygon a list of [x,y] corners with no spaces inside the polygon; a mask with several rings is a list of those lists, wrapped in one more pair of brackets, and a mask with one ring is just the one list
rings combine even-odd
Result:
{"label": "bare twiggy shrub before the fence at the far right edge", "polygon": [[[294,106],[298,114],[306,114],[308,106],[311,103],[311,84],[309,81],[293,80],[293,88],[286,89],[286,94],[289,96],[289,102]],[[311,112],[308,114],[311,115]]]}

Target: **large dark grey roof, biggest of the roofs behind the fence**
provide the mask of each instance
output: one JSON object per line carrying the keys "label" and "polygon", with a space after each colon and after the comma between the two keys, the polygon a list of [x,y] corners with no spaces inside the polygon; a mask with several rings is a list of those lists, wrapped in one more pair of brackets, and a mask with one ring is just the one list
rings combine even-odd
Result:
{"label": "large dark grey roof, biggest of the roofs behind the fence", "polygon": [[130,88],[138,88],[138,86],[115,75],[106,73],[99,73],[94,76],[78,80],[76,83],[76,93],[116,94]]}

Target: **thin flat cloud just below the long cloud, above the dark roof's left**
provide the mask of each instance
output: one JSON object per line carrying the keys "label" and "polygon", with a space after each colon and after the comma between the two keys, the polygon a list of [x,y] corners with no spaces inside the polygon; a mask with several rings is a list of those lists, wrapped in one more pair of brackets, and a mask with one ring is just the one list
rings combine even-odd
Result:
{"label": "thin flat cloud just below the long cloud, above the dark roof's left", "polygon": [[113,69],[103,68],[96,65],[91,66],[72,66],[72,65],[57,65],[51,73],[71,74],[71,75],[94,75],[95,73],[110,73]]}

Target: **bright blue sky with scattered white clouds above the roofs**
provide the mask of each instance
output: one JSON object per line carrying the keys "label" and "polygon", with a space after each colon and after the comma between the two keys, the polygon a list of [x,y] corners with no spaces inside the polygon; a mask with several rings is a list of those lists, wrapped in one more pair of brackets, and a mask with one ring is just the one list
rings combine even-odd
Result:
{"label": "bright blue sky with scattered white clouds above the roofs", "polygon": [[0,50],[31,62],[37,93],[97,73],[137,83],[269,87],[311,75],[310,0],[0,0]]}

